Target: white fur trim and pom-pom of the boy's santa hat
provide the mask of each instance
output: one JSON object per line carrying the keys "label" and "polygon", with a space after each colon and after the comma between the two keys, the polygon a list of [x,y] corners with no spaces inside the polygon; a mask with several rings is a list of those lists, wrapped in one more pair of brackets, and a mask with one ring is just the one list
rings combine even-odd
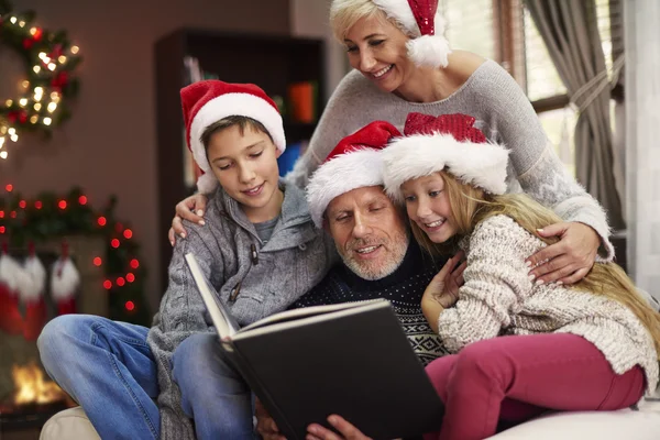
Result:
{"label": "white fur trim and pom-pom of the boy's santa hat", "polygon": [[[284,125],[279,112],[267,101],[250,94],[226,94],[209,100],[195,114],[190,124],[190,150],[197,165],[205,172],[205,175],[197,182],[198,188],[202,193],[213,190],[218,182],[211,173],[211,166],[207,160],[206,150],[201,143],[204,131],[211,124],[223,118],[240,116],[252,118],[261,122],[268,131],[273,143],[279,152],[286,150],[286,138],[284,135]],[[207,176],[205,180],[202,177]],[[208,178],[212,177],[213,182]],[[204,186],[207,190],[202,189]]]}

